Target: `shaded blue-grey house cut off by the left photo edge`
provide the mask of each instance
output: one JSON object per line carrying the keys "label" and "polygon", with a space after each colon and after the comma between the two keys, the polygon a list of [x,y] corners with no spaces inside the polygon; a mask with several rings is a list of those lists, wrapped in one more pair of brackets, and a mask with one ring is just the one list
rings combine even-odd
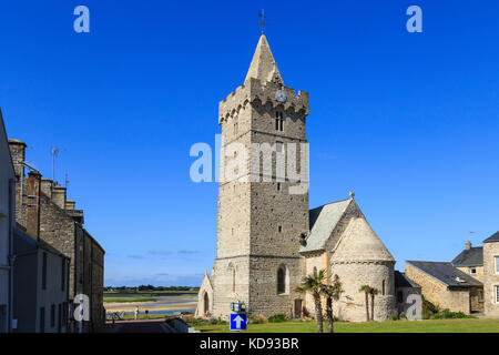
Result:
{"label": "shaded blue-grey house cut off by the left photo edge", "polygon": [[7,333],[12,315],[12,270],[16,174],[0,110],[0,333]]}

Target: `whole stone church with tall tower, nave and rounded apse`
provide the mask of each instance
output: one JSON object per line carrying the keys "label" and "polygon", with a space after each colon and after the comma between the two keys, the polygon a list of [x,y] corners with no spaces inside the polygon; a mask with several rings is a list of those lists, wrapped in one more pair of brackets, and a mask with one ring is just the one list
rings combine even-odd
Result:
{"label": "whole stone church with tall tower, nave and rounded apse", "polygon": [[[244,84],[220,103],[222,148],[234,142],[248,150],[254,143],[268,143],[274,150],[279,144],[302,146],[307,142],[307,115],[308,93],[284,85],[262,34]],[[299,165],[306,169],[308,162],[302,160]],[[206,272],[203,278],[196,316],[226,318],[236,301],[253,315],[301,317],[307,311],[314,315],[312,297],[295,288],[305,275],[326,270],[328,282],[337,274],[343,283],[336,316],[366,320],[359,288],[367,284],[379,290],[375,320],[388,318],[396,310],[395,260],[354,194],[309,210],[308,190],[299,194],[289,190],[304,181],[281,181],[274,171],[266,176],[271,179],[263,179],[259,170],[256,175],[262,179],[248,181],[245,173],[236,173],[218,185],[216,258],[211,275]]]}

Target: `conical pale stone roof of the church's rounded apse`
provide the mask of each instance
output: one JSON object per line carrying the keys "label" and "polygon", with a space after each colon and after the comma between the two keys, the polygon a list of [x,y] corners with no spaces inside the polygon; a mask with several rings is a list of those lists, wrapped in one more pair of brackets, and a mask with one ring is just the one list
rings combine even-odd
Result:
{"label": "conical pale stone roof of the church's rounded apse", "polygon": [[333,251],[335,262],[395,262],[365,219],[352,219]]}

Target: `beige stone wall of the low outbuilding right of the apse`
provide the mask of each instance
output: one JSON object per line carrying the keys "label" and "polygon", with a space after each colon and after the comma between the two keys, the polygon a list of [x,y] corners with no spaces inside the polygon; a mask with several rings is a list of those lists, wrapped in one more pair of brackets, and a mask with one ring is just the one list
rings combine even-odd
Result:
{"label": "beige stone wall of the low outbuilding right of the apse", "polygon": [[452,312],[470,313],[468,288],[449,290],[447,285],[409,263],[406,263],[406,276],[421,286],[421,294],[426,300],[440,306],[442,310],[449,308]]}

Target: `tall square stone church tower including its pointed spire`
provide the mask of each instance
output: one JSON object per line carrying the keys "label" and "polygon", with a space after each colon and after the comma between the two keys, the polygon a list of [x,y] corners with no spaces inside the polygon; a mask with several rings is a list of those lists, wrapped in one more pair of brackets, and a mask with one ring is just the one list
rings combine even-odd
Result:
{"label": "tall square stone church tower including its pointed spire", "polygon": [[226,317],[236,301],[254,315],[301,314],[304,295],[295,288],[308,232],[307,115],[308,93],[284,85],[262,34],[244,84],[220,103],[217,245],[206,275],[213,300],[200,296],[205,315]]}

